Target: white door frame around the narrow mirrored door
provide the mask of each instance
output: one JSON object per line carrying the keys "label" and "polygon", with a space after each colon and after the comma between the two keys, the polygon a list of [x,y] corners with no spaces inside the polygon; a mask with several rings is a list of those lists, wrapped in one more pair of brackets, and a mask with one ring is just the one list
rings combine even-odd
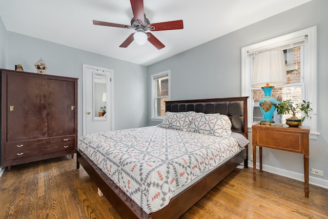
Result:
{"label": "white door frame around the narrow mirrored door", "polygon": [[82,79],[82,83],[83,83],[83,135],[86,134],[86,130],[87,130],[87,68],[92,68],[92,69],[98,69],[98,70],[102,70],[102,71],[109,71],[111,72],[111,78],[108,78],[106,83],[110,83],[111,85],[111,110],[110,110],[110,114],[109,116],[111,117],[111,130],[114,130],[114,107],[113,107],[113,91],[114,91],[114,86],[113,86],[113,82],[114,82],[114,70],[112,69],[108,69],[108,68],[103,68],[103,67],[97,67],[97,66],[92,66],[92,65],[87,65],[87,64],[82,64],[82,68],[83,68],[83,79]]}

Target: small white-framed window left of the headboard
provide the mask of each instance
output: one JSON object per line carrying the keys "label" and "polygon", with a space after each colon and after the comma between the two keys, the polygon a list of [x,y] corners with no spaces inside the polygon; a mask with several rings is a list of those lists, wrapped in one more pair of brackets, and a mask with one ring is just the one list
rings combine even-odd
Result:
{"label": "small white-framed window left of the headboard", "polygon": [[165,117],[165,101],[170,100],[170,70],[151,75],[152,120]]}

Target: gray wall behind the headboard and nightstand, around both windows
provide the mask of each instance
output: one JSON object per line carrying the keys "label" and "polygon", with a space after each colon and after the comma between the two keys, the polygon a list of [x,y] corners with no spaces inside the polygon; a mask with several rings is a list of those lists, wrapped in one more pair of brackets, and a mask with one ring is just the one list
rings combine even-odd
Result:
{"label": "gray wall behind the headboard and nightstand, around both windows", "polygon": [[[171,99],[213,98],[241,95],[241,48],[276,36],[317,25],[317,140],[310,140],[310,168],[325,176],[310,174],[310,182],[328,187],[328,1],[313,0],[297,8],[239,29],[213,41],[148,66],[150,75],[171,70]],[[148,98],[150,98],[150,82]],[[311,101],[311,100],[310,100]],[[148,105],[148,118],[151,108]],[[149,125],[158,123],[148,120]],[[252,142],[252,133],[249,133]],[[250,144],[250,146],[252,146]],[[251,147],[250,147],[251,148]],[[249,150],[249,154],[252,150]],[[257,160],[258,161],[258,160]],[[263,149],[263,164],[303,174],[303,156],[291,152]],[[311,176],[316,178],[311,178]],[[325,181],[320,181],[325,180]]]}

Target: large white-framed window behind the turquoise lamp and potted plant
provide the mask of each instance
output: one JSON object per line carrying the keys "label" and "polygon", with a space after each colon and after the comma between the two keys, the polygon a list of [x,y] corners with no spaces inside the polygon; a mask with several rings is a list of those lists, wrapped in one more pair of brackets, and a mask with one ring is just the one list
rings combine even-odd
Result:
{"label": "large white-framed window behind the turquoise lamp and potted plant", "polygon": [[[314,26],[241,49],[241,86],[242,95],[249,96],[249,127],[262,119],[258,101],[264,93],[261,88],[253,88],[251,85],[253,57],[262,51],[280,49],[285,55],[288,83],[273,89],[272,95],[277,102],[285,99],[292,99],[294,103],[300,103],[302,100],[309,101],[312,103],[313,113],[316,113],[316,32],[316,26]],[[278,116],[276,112],[274,114],[276,123],[285,123],[286,117],[289,115]],[[306,119],[303,124],[310,126],[310,138],[316,139],[318,135],[316,116],[312,116],[311,120]]]}

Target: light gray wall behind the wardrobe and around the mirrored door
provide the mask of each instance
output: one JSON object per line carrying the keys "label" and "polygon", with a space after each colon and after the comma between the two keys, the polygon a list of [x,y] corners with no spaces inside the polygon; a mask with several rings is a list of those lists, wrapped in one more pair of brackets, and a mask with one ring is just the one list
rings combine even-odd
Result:
{"label": "light gray wall behind the wardrobe and around the mirrored door", "polygon": [[24,71],[36,73],[34,63],[42,57],[48,66],[46,74],[78,78],[79,136],[83,127],[82,64],[114,70],[115,130],[147,125],[147,67],[10,31],[7,36],[5,68],[14,69],[21,64]]}

